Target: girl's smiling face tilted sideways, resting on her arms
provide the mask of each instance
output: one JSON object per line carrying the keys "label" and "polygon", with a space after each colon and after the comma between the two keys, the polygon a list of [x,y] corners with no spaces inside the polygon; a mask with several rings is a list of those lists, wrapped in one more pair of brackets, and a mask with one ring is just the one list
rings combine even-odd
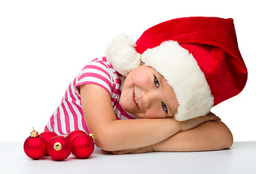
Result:
{"label": "girl's smiling face tilted sideways, resting on her arms", "polygon": [[173,117],[178,110],[173,88],[160,73],[146,65],[127,75],[120,104],[138,118]]}

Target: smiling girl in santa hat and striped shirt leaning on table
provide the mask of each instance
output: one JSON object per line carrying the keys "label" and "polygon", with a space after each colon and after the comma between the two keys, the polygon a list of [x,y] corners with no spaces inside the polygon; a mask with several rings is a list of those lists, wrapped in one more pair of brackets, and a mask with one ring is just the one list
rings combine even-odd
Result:
{"label": "smiling girl in santa hat and striped shirt leaning on table", "polygon": [[[216,39],[218,38],[218,39]],[[45,130],[96,133],[103,153],[227,149],[230,130],[210,112],[247,81],[234,23],[185,17],[120,35],[70,83]]]}

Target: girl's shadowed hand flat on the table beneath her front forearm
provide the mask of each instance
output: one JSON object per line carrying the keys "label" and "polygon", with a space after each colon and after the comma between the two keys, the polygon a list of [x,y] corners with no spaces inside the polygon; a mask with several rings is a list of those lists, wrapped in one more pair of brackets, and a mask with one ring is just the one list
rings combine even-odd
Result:
{"label": "girl's shadowed hand flat on the table beneath her front forearm", "polygon": [[127,150],[120,150],[120,151],[105,151],[102,149],[102,154],[141,154],[141,153],[146,153],[146,152],[153,152],[153,147],[152,146],[145,146],[145,147],[140,147],[136,149],[127,149]]}

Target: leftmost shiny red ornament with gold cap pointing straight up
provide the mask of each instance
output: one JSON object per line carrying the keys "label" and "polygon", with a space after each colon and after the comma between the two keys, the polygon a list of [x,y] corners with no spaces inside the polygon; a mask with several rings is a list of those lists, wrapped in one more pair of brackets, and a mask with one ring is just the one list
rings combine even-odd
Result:
{"label": "leftmost shiny red ornament with gold cap pointing straight up", "polygon": [[46,154],[47,141],[43,136],[38,135],[37,130],[32,130],[24,142],[23,149],[28,157],[40,159]]}

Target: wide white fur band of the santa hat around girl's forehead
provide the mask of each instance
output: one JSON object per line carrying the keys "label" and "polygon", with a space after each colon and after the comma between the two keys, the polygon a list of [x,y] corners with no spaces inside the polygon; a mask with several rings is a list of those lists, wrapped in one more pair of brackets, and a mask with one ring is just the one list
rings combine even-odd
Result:
{"label": "wide white fur band of the santa hat around girl's forehead", "polygon": [[160,72],[173,87],[179,103],[176,120],[189,120],[210,112],[213,97],[205,75],[193,55],[176,41],[147,49],[141,54],[141,61]]}

